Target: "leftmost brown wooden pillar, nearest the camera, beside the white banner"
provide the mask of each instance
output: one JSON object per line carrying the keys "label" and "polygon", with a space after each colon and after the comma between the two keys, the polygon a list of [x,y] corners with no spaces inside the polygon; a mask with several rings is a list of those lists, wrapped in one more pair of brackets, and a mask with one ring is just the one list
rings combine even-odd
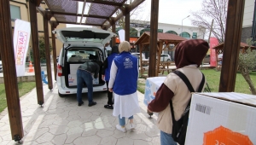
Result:
{"label": "leftmost brown wooden pillar, nearest the camera, beside the white banner", "polygon": [[9,1],[0,1],[0,50],[4,68],[4,86],[11,136],[13,140],[20,141],[24,134],[20,113],[20,98],[15,68],[15,52],[10,22]]}

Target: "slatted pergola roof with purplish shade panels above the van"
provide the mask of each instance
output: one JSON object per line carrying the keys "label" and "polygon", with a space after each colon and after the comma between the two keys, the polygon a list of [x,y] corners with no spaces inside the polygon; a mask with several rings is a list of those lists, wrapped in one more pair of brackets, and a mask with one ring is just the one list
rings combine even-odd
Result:
{"label": "slatted pergola roof with purplish shade panels above the van", "polygon": [[[39,9],[45,14],[53,16],[57,23],[81,24],[88,26],[101,26],[108,29],[112,24],[129,13],[145,0],[134,0],[131,4],[125,4],[127,0],[44,0],[49,10]],[[83,9],[79,13],[79,2],[82,2]],[[85,3],[90,5],[87,14],[83,14]],[[122,13],[113,17],[121,10]],[[85,12],[84,12],[85,13]],[[85,21],[82,21],[86,17]]]}

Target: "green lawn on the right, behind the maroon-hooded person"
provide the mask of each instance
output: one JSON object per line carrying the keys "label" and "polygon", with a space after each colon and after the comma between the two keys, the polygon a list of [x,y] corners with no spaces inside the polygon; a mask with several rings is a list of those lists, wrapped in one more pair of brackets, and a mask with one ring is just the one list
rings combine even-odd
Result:
{"label": "green lawn on the right, behind the maroon-hooded person", "polygon": [[[210,87],[211,92],[218,92],[220,72],[219,71],[217,72],[214,69],[205,69],[205,70],[201,70],[201,72],[204,73],[207,79],[207,84]],[[253,81],[253,84],[255,84],[256,72],[250,73],[250,77]],[[144,94],[145,83],[143,81],[138,81],[137,90]],[[247,84],[246,80],[242,77],[241,73],[236,73],[235,92],[252,94],[251,91],[249,90],[249,85]]]}

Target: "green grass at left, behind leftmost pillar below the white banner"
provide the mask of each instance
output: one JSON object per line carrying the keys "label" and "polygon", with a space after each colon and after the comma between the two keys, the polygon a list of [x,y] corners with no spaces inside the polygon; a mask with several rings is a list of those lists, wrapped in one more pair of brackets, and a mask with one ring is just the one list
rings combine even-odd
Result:
{"label": "green grass at left, behind leftmost pillar below the white banner", "polygon": [[[36,82],[20,82],[18,83],[19,96],[24,96],[26,93],[36,87]],[[0,84],[0,113],[7,107],[5,87]]]}

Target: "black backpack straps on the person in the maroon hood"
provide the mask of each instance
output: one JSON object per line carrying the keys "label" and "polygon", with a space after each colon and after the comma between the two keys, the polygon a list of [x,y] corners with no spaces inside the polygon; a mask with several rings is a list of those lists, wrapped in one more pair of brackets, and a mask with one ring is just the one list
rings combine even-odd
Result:
{"label": "black backpack straps on the person in the maroon hood", "polygon": [[[189,82],[189,79],[188,79],[183,73],[181,73],[181,72],[179,72],[179,71],[174,71],[173,73],[177,74],[177,76],[178,76],[179,78],[182,78],[182,79],[183,79],[183,82],[187,85],[187,87],[188,87],[188,89],[190,90],[190,92],[195,92],[194,88],[192,87],[192,85],[191,85],[190,82]],[[204,87],[204,84],[205,84],[205,76],[204,76],[203,73],[201,73],[201,74],[202,74],[202,79],[201,79],[201,83],[200,83],[200,85],[199,85],[199,88],[198,88],[197,92],[201,92],[201,90],[202,90],[202,88]],[[190,106],[190,102],[191,102],[191,98],[189,99],[189,103],[188,103],[188,105],[187,105],[187,107],[186,107],[185,112],[183,113],[183,115],[184,115],[185,113],[187,113],[186,110],[188,110],[188,107]],[[174,118],[174,111],[173,111],[173,106],[172,106],[172,100],[170,101],[170,106],[171,106],[172,123],[173,123],[173,122],[175,121],[175,118]]]}

